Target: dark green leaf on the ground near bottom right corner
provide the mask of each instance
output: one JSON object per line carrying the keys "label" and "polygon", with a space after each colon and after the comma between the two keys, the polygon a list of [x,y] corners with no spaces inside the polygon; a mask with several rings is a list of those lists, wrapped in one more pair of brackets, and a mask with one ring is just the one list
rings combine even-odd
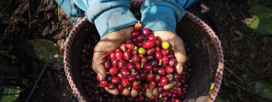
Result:
{"label": "dark green leaf on the ground near bottom right corner", "polygon": [[272,99],[272,86],[266,84],[265,80],[251,82],[250,84],[252,85],[251,87],[253,88],[253,91],[267,98]]}

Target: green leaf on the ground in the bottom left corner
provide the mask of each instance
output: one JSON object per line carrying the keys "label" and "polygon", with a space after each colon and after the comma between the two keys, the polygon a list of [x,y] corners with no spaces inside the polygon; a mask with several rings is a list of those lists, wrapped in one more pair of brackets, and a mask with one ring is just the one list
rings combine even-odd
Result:
{"label": "green leaf on the ground in the bottom left corner", "polygon": [[0,87],[0,101],[2,102],[11,102],[16,101],[19,96],[20,92],[24,89],[21,89],[16,86],[2,86]]}

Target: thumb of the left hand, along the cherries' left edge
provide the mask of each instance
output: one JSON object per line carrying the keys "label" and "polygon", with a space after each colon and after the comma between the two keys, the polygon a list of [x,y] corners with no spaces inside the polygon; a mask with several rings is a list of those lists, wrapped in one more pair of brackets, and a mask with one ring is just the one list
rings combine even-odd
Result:
{"label": "thumb of the left hand, along the cherries' left edge", "polygon": [[106,59],[106,52],[102,50],[103,48],[101,45],[101,42],[98,42],[97,45],[94,47],[92,69],[97,73],[98,78],[101,81],[104,81],[107,76],[106,68],[103,65]]}

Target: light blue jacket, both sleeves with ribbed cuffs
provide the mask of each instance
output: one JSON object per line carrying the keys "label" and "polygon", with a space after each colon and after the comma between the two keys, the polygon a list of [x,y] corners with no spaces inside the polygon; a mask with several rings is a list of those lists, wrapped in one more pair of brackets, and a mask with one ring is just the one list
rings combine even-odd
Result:
{"label": "light blue jacket, both sleeves with ribbed cuffs", "polygon": [[[85,11],[88,20],[95,24],[101,38],[110,32],[134,25],[138,20],[130,11],[129,0],[56,0],[67,14],[75,11],[62,5],[63,1],[75,3]],[[143,28],[151,31],[171,31],[175,33],[176,24],[185,15],[184,9],[197,0],[144,0],[140,12]],[[63,3],[64,4],[64,3]],[[68,8],[68,9],[65,9]],[[70,13],[71,15],[71,13]],[[70,16],[68,14],[68,16]]]}

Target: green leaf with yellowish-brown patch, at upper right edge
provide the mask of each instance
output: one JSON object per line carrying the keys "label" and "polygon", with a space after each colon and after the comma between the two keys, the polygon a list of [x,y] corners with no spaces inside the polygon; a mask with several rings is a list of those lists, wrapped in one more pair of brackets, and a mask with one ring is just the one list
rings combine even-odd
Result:
{"label": "green leaf with yellowish-brown patch, at upper right edge", "polygon": [[248,26],[260,34],[272,34],[272,10],[264,5],[252,6],[249,13],[255,20]]}

